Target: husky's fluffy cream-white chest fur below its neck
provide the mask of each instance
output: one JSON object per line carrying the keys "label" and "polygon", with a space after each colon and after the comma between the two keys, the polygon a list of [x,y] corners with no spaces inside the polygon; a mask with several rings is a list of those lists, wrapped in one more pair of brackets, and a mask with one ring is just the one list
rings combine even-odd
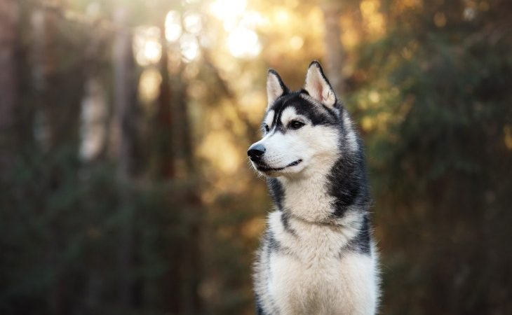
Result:
{"label": "husky's fluffy cream-white chest fur below its neck", "polygon": [[[266,290],[278,314],[375,314],[375,253],[344,251],[356,230],[269,215],[281,250],[268,258]],[[291,232],[290,232],[291,231]]]}

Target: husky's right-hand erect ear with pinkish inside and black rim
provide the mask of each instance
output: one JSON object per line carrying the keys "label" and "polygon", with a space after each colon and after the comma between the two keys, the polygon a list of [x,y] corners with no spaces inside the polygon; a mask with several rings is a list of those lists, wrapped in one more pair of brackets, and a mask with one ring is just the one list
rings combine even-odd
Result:
{"label": "husky's right-hand erect ear with pinkish inside and black rim", "polygon": [[316,60],[309,64],[304,90],[311,97],[326,106],[332,107],[336,104],[335,91],[332,90],[329,81],[323,74],[322,66]]}

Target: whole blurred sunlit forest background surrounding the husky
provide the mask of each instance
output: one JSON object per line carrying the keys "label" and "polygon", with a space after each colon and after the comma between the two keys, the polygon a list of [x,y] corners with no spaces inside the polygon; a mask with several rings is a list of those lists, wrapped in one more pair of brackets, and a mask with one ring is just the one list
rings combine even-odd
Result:
{"label": "whole blurred sunlit forest background surrounding the husky", "polygon": [[382,314],[512,314],[512,1],[0,0],[0,314],[254,314],[246,150],[312,59],[367,147]]}

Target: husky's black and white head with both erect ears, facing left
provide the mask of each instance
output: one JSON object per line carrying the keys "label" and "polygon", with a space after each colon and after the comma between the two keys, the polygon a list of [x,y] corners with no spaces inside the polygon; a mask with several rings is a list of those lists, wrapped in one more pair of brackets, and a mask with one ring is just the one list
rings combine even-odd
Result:
{"label": "husky's black and white head with both erect ears, facing left", "polygon": [[347,140],[353,142],[349,147],[356,145],[349,118],[318,62],[311,62],[304,88],[296,92],[270,69],[267,97],[263,138],[248,150],[252,166],[260,173],[308,176],[318,167],[332,166]]}

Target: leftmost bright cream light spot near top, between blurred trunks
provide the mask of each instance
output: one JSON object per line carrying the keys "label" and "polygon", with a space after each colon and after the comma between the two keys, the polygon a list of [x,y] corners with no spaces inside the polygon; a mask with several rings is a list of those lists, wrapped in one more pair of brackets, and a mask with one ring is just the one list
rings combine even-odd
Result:
{"label": "leftmost bright cream light spot near top, between blurred trunks", "polygon": [[135,59],[141,66],[156,64],[162,56],[160,29],[158,27],[138,27],[133,38]]}

